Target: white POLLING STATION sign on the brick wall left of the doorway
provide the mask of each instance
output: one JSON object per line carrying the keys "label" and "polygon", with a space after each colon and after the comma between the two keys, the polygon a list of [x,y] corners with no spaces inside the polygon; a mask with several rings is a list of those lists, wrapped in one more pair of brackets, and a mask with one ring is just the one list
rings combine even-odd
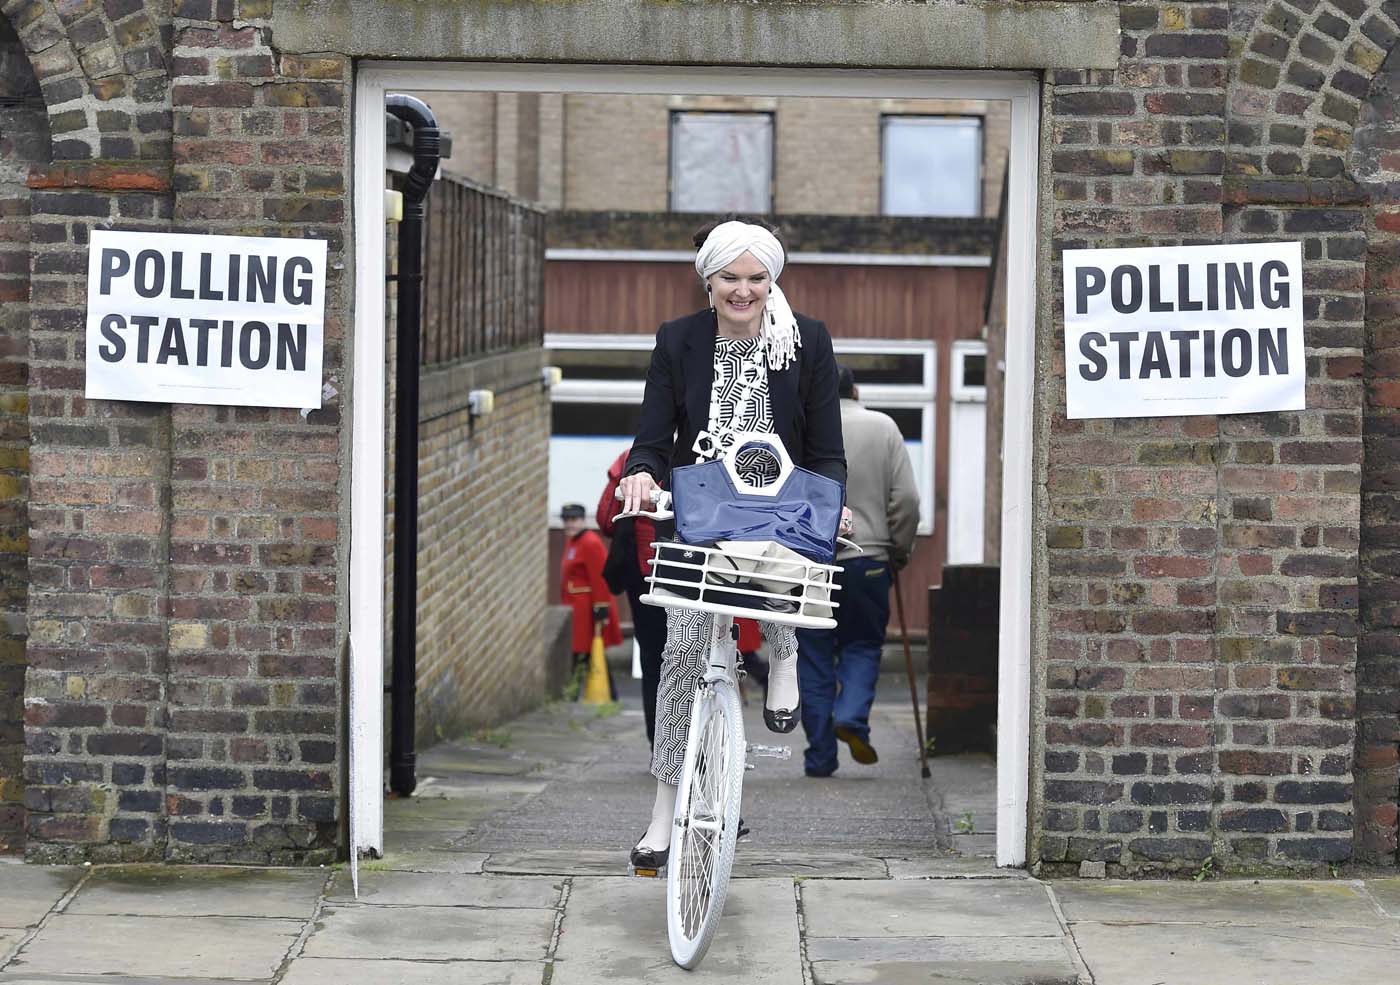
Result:
{"label": "white POLLING STATION sign on the brick wall left of the doorway", "polygon": [[94,229],[88,397],[321,406],[326,242]]}

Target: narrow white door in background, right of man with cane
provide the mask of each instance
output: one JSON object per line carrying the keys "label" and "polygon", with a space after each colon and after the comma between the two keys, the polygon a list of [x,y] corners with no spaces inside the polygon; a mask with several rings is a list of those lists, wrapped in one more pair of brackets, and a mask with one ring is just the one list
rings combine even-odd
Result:
{"label": "narrow white door in background, right of man with cane", "polygon": [[987,481],[987,343],[955,341],[949,372],[948,564],[981,564]]}

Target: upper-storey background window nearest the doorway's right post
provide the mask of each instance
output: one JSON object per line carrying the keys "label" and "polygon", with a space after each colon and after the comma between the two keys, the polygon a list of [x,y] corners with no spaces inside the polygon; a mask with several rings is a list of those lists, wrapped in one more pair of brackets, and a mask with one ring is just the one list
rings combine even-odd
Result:
{"label": "upper-storey background window nearest the doorway's right post", "polygon": [[881,118],[885,215],[981,215],[981,118]]}

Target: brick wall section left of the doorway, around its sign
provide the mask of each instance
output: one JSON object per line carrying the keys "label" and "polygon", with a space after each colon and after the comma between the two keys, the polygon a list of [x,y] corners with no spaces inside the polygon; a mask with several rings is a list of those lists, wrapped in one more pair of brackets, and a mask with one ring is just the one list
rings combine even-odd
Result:
{"label": "brick wall section left of the doorway, around its sign", "polygon": [[4,10],[71,162],[31,179],[27,852],[329,859],[339,402],[90,403],[81,273],[98,224],[326,238],[343,389],[349,64],[279,57],[266,0],[185,0],[172,20],[125,0]]}

